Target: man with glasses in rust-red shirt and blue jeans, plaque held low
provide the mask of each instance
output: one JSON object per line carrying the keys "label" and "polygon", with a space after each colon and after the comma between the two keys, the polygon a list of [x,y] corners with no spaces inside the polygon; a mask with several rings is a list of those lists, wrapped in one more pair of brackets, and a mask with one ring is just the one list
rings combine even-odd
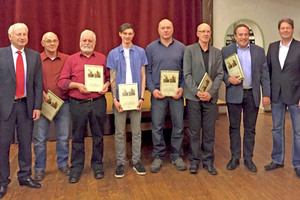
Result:
{"label": "man with glasses in rust-red shirt and blue jeans, plaque held low", "polygon": [[[64,100],[64,104],[54,117],[55,132],[57,136],[56,154],[57,165],[61,172],[65,175],[70,174],[68,166],[69,155],[69,97],[57,86],[57,81],[62,67],[68,58],[68,55],[57,51],[59,40],[55,33],[47,32],[43,35],[41,60],[43,67],[43,100],[47,101],[48,90],[52,91],[56,96]],[[51,121],[41,115],[40,119],[35,122],[33,130],[33,144],[35,153],[35,176],[34,179],[41,181],[45,177],[47,138],[49,135],[49,127]]]}

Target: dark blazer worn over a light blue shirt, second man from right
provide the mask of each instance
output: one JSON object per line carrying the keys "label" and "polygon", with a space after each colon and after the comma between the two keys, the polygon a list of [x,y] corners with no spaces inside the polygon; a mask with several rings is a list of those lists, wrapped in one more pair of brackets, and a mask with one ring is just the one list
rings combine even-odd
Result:
{"label": "dark blazer worn over a light blue shirt, second man from right", "polygon": [[[222,49],[223,60],[228,56],[237,53],[236,43],[232,43]],[[264,97],[270,97],[270,78],[267,66],[265,51],[263,48],[250,44],[251,54],[251,76],[252,76],[252,93],[255,106],[260,104],[260,86],[262,86],[262,94]],[[242,103],[243,101],[243,82],[239,85],[232,85],[228,78],[230,77],[223,62],[224,67],[224,82],[226,84],[226,102]]]}

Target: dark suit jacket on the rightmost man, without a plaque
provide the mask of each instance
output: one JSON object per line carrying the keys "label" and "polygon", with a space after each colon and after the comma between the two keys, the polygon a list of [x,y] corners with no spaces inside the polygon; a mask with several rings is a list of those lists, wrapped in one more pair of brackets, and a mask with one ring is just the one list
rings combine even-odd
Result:
{"label": "dark suit jacket on the rightmost man, without a plaque", "polygon": [[267,61],[271,79],[271,100],[281,100],[288,105],[298,104],[300,99],[300,42],[292,40],[281,70],[279,62],[280,41],[270,44]]}

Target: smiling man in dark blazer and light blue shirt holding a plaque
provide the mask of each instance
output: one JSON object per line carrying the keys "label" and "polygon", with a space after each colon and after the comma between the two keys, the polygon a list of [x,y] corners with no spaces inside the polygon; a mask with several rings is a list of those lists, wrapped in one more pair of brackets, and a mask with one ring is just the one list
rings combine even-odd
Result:
{"label": "smiling man in dark blazer and light blue shirt holding a plaque", "polygon": [[[227,164],[228,170],[233,170],[239,165],[241,158],[240,124],[243,111],[244,140],[243,158],[244,164],[251,172],[257,168],[252,161],[255,125],[260,105],[260,86],[262,86],[262,105],[270,104],[270,79],[264,49],[249,44],[249,27],[239,24],[234,29],[235,43],[222,49],[223,59],[233,53],[237,53],[245,79],[239,76],[230,76],[224,67],[224,82],[226,84],[226,103],[229,114],[229,134],[231,160]],[[225,66],[225,65],[224,65]]]}

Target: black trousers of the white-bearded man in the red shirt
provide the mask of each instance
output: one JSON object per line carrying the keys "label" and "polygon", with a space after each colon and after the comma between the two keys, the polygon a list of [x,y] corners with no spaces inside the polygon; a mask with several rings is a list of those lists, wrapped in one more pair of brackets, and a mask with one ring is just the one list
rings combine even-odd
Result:
{"label": "black trousers of the white-bearded man in the red shirt", "polygon": [[103,169],[103,132],[106,117],[105,97],[101,96],[90,102],[80,102],[71,98],[70,113],[73,124],[71,173],[81,173],[84,168],[84,138],[88,122],[93,138],[91,167],[94,171]]}

